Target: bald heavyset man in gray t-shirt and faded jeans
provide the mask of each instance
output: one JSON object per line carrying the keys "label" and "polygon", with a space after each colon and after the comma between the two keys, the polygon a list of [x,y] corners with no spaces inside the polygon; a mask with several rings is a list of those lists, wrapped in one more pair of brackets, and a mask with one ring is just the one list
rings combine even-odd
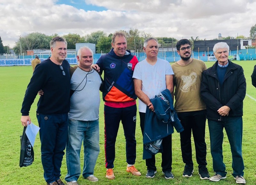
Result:
{"label": "bald heavyset man in gray t-shirt and faded jeans", "polygon": [[71,97],[68,113],[68,142],[66,158],[68,184],[77,185],[81,174],[80,151],[84,143],[83,177],[89,181],[98,181],[93,175],[99,146],[99,107],[101,78],[91,65],[92,50],[82,47],[77,53],[78,65],[70,68]]}

